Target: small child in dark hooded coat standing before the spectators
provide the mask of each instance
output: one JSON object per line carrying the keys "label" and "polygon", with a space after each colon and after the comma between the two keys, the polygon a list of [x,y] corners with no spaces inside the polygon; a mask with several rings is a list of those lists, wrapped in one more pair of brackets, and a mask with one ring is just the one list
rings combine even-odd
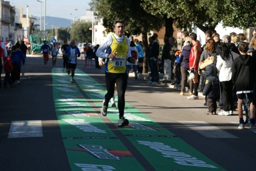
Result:
{"label": "small child in dark hooded coat standing before the spectators", "polygon": [[208,110],[205,115],[216,115],[217,110],[217,99],[219,97],[219,80],[216,76],[216,67],[211,64],[205,69],[205,86],[203,88],[203,95],[207,96]]}

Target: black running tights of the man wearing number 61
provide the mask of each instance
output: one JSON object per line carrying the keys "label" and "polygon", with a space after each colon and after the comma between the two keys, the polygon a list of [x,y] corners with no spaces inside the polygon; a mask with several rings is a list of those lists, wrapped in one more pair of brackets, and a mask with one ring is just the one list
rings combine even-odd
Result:
{"label": "black running tights of the man wearing number 61", "polygon": [[107,86],[107,94],[105,94],[105,102],[104,106],[108,106],[108,102],[114,95],[115,91],[115,83],[117,84],[117,96],[118,96],[118,110],[119,110],[119,118],[124,116],[124,106],[125,99],[124,94],[127,86],[126,73],[115,74],[110,72],[105,72],[106,86]]}

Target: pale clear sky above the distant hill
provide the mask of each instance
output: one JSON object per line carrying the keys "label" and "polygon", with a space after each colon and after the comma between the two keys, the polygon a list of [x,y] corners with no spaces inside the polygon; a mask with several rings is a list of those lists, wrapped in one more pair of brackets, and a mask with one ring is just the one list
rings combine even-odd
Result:
{"label": "pale clear sky above the distant hill", "polygon": [[[28,13],[30,13],[33,16],[40,17],[40,3],[37,0],[4,1],[9,1],[10,5],[12,6],[22,7],[23,14],[26,14],[26,6],[28,5]],[[72,20],[74,20],[74,17],[77,17],[78,19],[80,19],[81,15],[86,14],[85,10],[88,10],[90,8],[89,3],[90,0],[46,0],[46,16],[60,17]],[[44,17],[44,2],[42,3],[42,17]]]}

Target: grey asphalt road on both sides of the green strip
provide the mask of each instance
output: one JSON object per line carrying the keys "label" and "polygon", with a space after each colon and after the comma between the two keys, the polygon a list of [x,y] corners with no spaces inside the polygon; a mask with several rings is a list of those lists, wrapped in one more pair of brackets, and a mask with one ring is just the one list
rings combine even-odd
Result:
{"label": "grey asphalt road on both sides of the green strip", "polygon": [[[61,58],[56,67],[62,68]],[[103,69],[85,69],[81,60],[77,68],[105,86]],[[8,89],[2,85],[1,171],[71,170],[55,113],[51,69],[51,58],[44,67],[42,57],[28,56],[21,69],[21,83]],[[4,71],[1,81],[3,77]],[[190,101],[187,95],[129,77],[126,102],[226,170],[254,170],[256,135],[249,129],[237,129],[237,112],[232,116],[205,115],[203,97]],[[42,120],[43,136],[8,138],[11,123],[21,120]]]}

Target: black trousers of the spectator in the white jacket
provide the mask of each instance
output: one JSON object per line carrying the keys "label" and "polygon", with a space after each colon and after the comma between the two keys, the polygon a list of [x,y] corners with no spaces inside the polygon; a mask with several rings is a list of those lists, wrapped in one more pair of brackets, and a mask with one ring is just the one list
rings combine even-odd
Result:
{"label": "black trousers of the spectator in the white jacket", "polygon": [[223,110],[230,111],[233,110],[234,102],[233,102],[233,83],[230,81],[221,81],[222,86],[222,102],[223,102]]}

